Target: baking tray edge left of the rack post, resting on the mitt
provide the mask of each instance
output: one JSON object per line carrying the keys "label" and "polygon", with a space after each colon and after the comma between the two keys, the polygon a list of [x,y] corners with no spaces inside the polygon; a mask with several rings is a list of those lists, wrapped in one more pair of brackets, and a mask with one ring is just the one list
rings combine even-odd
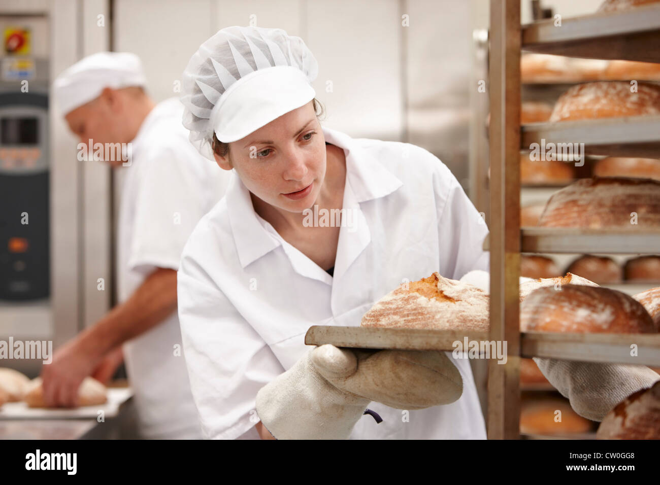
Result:
{"label": "baking tray edge left of the rack post, resting on the mitt", "polygon": [[446,350],[453,342],[488,340],[487,332],[427,329],[385,329],[373,327],[333,327],[314,325],[305,335],[305,344],[333,344],[349,348],[389,348],[399,350]]}

